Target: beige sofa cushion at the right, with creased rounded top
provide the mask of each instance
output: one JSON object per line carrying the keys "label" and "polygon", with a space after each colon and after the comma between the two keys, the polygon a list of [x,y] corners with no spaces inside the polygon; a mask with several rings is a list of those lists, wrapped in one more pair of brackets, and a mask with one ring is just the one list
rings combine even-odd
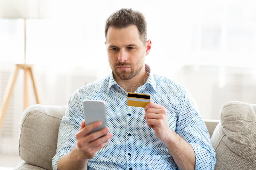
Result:
{"label": "beige sofa cushion at the right, with creased rounded top", "polygon": [[225,103],[211,142],[215,169],[256,169],[256,104]]}

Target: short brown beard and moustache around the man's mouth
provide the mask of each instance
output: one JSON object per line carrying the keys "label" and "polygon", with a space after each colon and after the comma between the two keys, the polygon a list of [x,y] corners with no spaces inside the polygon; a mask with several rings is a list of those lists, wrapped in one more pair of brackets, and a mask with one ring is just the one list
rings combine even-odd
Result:
{"label": "short brown beard and moustache around the man's mouth", "polygon": [[[117,70],[119,66],[128,66],[130,70]],[[110,64],[113,73],[121,80],[129,80],[134,77],[143,67],[143,63],[139,63],[134,67],[132,63],[118,62],[114,66]]]}

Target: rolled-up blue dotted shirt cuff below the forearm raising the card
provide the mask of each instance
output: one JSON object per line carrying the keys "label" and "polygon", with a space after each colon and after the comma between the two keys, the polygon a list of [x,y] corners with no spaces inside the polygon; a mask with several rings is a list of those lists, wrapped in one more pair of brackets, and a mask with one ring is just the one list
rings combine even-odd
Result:
{"label": "rolled-up blue dotted shirt cuff below the forearm raising the card", "polygon": [[212,153],[206,148],[203,148],[201,145],[190,143],[194,149],[196,155],[196,170],[197,169],[214,169],[216,159],[215,155],[212,156]]}

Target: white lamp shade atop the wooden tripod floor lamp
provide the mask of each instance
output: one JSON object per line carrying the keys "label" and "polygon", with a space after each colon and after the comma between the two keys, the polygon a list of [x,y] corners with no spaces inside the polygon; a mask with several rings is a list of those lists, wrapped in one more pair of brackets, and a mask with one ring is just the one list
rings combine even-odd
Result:
{"label": "white lamp shade atop the wooden tripod floor lamp", "polygon": [[0,0],[0,18],[50,18],[50,0]]}

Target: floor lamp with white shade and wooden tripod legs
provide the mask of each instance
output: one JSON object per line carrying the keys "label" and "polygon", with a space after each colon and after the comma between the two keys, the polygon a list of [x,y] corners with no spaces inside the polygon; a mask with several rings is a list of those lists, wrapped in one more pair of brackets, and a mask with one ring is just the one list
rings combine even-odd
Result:
{"label": "floor lamp with white shade and wooden tripod legs", "polygon": [[4,93],[0,112],[0,131],[4,123],[4,117],[10,103],[15,81],[20,70],[24,70],[24,110],[28,107],[28,79],[33,83],[36,103],[40,103],[38,89],[33,72],[33,64],[26,63],[26,20],[28,18],[49,18],[47,0],[0,0],[0,18],[22,18],[24,20],[24,63],[16,64],[15,71],[11,74]]}

